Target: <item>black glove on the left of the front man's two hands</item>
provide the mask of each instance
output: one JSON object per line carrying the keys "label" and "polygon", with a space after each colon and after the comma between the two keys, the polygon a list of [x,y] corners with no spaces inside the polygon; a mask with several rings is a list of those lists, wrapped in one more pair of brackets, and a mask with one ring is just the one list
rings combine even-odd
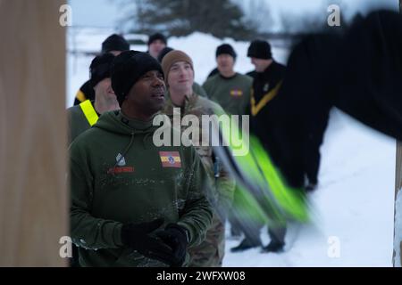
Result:
{"label": "black glove on the left of the front man's two hands", "polygon": [[143,256],[171,265],[171,261],[174,259],[172,248],[169,248],[163,240],[149,236],[149,233],[154,232],[162,224],[162,218],[148,223],[123,224],[121,227],[121,242],[125,246],[137,250]]}

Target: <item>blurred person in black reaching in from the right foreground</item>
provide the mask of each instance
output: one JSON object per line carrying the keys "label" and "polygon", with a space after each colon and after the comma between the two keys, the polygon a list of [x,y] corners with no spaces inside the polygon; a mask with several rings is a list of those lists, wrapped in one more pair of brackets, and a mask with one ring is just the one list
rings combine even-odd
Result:
{"label": "blurred person in black reaching in from the right foreground", "polygon": [[333,107],[402,139],[401,50],[402,17],[390,11],[357,18],[342,34],[312,34],[293,48],[278,95],[288,113],[276,127],[290,186],[303,187]]}

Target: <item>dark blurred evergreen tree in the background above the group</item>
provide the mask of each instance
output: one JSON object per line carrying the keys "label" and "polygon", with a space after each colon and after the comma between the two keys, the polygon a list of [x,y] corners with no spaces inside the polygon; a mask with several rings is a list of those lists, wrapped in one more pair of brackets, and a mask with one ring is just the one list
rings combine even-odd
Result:
{"label": "dark blurred evergreen tree in the background above the group", "polygon": [[168,36],[187,36],[193,31],[214,37],[249,40],[256,27],[246,20],[237,4],[230,0],[137,0],[134,32],[151,34],[162,31]]}

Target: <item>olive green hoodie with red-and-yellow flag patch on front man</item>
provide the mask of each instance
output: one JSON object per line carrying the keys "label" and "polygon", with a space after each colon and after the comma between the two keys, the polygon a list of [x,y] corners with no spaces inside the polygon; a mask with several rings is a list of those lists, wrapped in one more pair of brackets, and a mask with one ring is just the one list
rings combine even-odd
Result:
{"label": "olive green hoodie with red-and-yellow flag patch on front man", "polygon": [[152,120],[102,115],[71,143],[71,237],[84,266],[163,266],[121,243],[123,223],[163,217],[205,238],[212,221],[205,169],[192,147],[156,147]]}

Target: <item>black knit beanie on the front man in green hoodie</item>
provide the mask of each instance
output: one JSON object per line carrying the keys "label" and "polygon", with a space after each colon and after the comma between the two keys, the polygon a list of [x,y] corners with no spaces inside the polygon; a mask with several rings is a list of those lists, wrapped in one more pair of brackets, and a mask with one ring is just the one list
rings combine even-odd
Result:
{"label": "black knit beanie on the front man in green hoodie", "polygon": [[126,51],[115,57],[111,67],[112,88],[120,106],[132,85],[151,70],[158,70],[163,75],[159,62],[148,53]]}

